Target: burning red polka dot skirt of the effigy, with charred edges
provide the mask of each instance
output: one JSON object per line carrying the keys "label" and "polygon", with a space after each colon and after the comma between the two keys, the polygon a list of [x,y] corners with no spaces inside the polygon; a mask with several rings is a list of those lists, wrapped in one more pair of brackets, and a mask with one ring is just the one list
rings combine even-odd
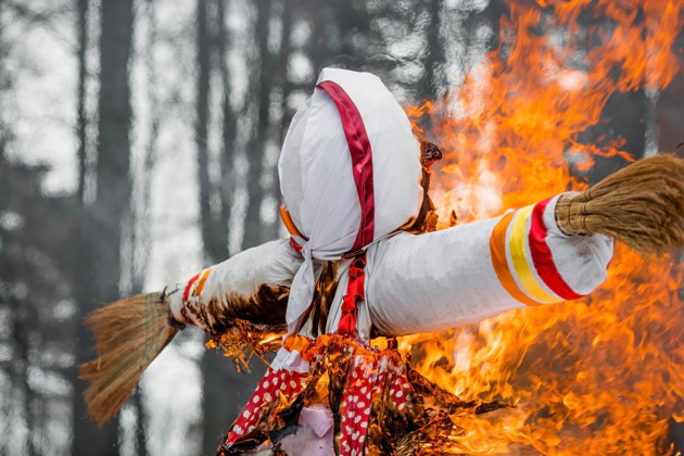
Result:
{"label": "burning red polka dot skirt of the effigy, with charred edges", "polygon": [[420,448],[457,445],[452,413],[502,407],[458,400],[410,369],[395,347],[370,349],[341,334],[297,338],[286,341],[284,354],[296,352],[299,370],[308,371],[269,368],[218,456],[432,454]]}

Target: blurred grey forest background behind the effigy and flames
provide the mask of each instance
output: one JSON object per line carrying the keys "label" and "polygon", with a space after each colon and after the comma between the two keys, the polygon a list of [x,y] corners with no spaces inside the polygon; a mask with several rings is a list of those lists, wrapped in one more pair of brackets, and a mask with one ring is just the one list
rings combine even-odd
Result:
{"label": "blurred grey forest background behind the effigy and flames", "polygon": [[[322,66],[372,71],[405,105],[440,99],[498,46],[507,12],[504,0],[0,0],[0,454],[214,454],[263,363],[239,373],[183,331],[98,429],[74,368],[92,357],[81,319],[282,235],[279,144]],[[616,93],[584,135],[624,139],[634,156],[672,150],[682,87]]]}

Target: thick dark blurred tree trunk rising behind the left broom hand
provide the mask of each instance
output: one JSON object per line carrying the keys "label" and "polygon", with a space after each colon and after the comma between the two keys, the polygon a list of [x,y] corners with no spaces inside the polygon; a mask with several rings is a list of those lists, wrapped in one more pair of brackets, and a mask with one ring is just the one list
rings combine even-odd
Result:
{"label": "thick dark blurred tree trunk rising behind the left broom hand", "polygon": [[[97,195],[90,207],[90,229],[81,237],[84,281],[80,284],[79,315],[92,311],[96,302],[119,297],[121,224],[130,210],[130,90],[128,61],[132,37],[132,0],[103,0],[100,36],[100,97],[98,123]],[[91,359],[87,349],[90,334],[79,330],[77,360]],[[73,454],[118,454],[117,422],[98,429],[86,414],[85,382],[75,383]]]}

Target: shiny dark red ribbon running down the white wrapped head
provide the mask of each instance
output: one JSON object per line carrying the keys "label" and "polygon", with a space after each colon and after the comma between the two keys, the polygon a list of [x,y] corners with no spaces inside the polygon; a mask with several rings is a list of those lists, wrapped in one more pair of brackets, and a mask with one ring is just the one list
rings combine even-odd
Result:
{"label": "shiny dark red ribbon running down the white wrapped head", "polygon": [[342,128],[346,137],[346,143],[352,155],[352,172],[356,192],[362,206],[362,223],[356,235],[354,245],[350,252],[356,251],[372,242],[376,206],[372,182],[372,153],[370,140],[366,134],[364,119],[350,96],[337,83],[326,80],[316,86],[326,91],[334,102]]}

